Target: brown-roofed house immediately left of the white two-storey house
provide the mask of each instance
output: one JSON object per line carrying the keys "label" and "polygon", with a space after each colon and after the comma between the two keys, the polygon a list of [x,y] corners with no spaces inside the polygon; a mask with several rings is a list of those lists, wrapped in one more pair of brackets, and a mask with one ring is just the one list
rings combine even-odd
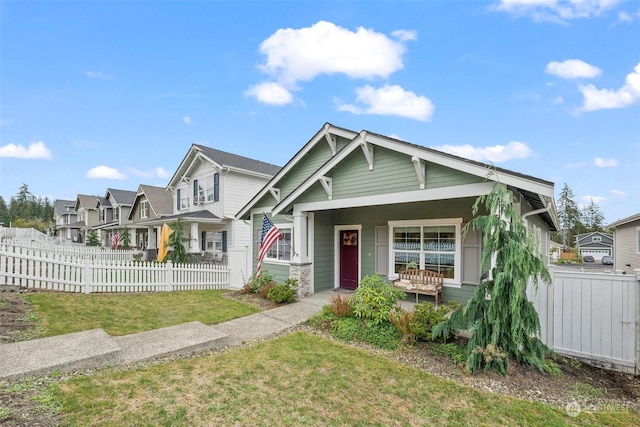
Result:
{"label": "brown-roofed house immediately left of the white two-storey house", "polygon": [[131,221],[131,234],[139,249],[157,249],[160,230],[160,227],[140,224],[172,214],[173,197],[166,188],[140,184],[127,218]]}

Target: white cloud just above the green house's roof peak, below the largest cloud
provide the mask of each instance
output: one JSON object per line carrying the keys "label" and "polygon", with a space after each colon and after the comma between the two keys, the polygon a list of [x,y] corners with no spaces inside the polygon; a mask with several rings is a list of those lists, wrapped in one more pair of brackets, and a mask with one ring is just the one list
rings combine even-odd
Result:
{"label": "white cloud just above the green house's roof peak, below the largest cloud", "polygon": [[363,107],[345,104],[338,106],[339,111],[354,114],[384,114],[408,117],[420,121],[429,121],[433,116],[433,103],[429,98],[418,96],[402,87],[385,85],[375,89],[369,85],[356,89],[357,102]]}

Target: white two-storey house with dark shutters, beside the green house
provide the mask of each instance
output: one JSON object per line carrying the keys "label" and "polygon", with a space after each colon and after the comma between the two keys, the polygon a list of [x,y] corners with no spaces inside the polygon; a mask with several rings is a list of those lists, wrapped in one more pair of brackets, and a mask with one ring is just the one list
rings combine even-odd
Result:
{"label": "white two-storey house with dark shutters, beside the green house", "polygon": [[[280,166],[193,144],[167,185],[173,212],[137,225],[160,228],[180,218],[189,238],[187,251],[229,265],[231,286],[251,275],[251,226],[235,214],[280,171]],[[150,234],[151,235],[151,234]]]}

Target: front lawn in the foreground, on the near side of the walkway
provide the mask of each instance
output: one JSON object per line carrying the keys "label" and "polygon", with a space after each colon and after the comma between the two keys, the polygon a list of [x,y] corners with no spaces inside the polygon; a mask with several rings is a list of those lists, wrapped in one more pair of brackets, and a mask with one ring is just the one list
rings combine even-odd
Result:
{"label": "front lawn in the foreground, on the near side of the walkway", "polygon": [[63,426],[640,425],[463,387],[305,332],[225,353],[59,383]]}

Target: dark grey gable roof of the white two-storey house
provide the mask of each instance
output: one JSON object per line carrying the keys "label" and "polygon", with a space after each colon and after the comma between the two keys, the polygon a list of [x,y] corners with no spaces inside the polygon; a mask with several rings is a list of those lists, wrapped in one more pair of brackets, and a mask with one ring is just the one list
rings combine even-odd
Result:
{"label": "dark grey gable roof of the white two-storey house", "polygon": [[208,161],[220,170],[234,170],[237,172],[263,176],[265,178],[272,177],[281,169],[280,166],[272,165],[271,163],[250,159],[248,157],[239,156],[226,151],[216,150],[215,148],[206,147],[200,144],[192,144],[186,156],[169,180],[167,187],[175,187],[177,181],[179,181],[180,178],[189,171],[193,162],[198,158]]}

